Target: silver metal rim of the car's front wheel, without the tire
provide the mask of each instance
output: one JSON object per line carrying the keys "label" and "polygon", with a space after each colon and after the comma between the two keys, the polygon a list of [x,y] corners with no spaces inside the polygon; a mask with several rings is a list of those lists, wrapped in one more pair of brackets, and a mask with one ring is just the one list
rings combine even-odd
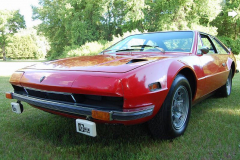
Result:
{"label": "silver metal rim of the car's front wheel, without the tire", "polygon": [[188,110],[188,91],[184,86],[180,86],[174,93],[171,107],[172,125],[176,130],[181,129],[184,126],[187,120]]}

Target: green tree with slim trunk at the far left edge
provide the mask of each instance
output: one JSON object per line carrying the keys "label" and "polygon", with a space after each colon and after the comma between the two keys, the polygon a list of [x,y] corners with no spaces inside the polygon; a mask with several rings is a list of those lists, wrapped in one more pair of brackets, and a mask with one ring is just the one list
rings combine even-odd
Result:
{"label": "green tree with slim trunk at the far left edge", "polygon": [[0,46],[3,55],[3,61],[6,61],[6,47],[9,44],[9,37],[16,33],[20,28],[25,28],[25,20],[19,10],[0,11]]}

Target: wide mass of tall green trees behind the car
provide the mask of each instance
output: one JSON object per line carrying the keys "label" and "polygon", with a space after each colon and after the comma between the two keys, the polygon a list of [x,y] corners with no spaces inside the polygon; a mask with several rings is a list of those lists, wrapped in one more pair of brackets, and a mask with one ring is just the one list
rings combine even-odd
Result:
{"label": "wide mass of tall green trees behind the car", "polygon": [[85,55],[79,52],[86,49],[78,46],[97,46],[99,40],[112,41],[135,29],[200,30],[237,39],[239,18],[229,19],[227,12],[239,10],[239,4],[239,0],[40,0],[33,12],[34,19],[43,21],[38,31],[50,40],[47,56],[54,59]]}

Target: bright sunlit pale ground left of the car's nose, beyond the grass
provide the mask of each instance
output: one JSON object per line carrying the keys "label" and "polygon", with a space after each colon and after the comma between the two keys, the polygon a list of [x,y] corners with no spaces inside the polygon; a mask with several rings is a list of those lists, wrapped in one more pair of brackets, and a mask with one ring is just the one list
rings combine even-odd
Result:
{"label": "bright sunlit pale ground left of the car's nose, beyond the grass", "polygon": [[14,71],[40,62],[0,62],[0,76],[10,76]]}

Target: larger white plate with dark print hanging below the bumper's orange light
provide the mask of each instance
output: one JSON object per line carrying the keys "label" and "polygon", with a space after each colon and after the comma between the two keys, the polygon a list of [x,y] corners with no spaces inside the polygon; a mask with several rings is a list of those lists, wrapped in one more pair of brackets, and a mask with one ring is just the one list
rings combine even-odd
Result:
{"label": "larger white plate with dark print hanging below the bumper's orange light", "polygon": [[96,124],[94,122],[76,119],[76,129],[78,133],[86,134],[88,136],[96,137]]}

